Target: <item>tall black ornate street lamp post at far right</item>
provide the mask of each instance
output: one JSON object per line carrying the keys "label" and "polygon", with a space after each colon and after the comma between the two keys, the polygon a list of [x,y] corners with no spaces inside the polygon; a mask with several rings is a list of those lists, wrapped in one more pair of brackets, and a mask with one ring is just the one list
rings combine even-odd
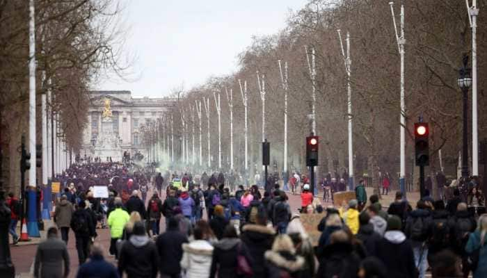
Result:
{"label": "tall black ornate street lamp post at far right", "polygon": [[458,87],[463,93],[463,147],[462,147],[462,177],[468,179],[468,89],[472,85],[472,77],[468,67],[468,56],[463,55],[463,67],[459,70]]}

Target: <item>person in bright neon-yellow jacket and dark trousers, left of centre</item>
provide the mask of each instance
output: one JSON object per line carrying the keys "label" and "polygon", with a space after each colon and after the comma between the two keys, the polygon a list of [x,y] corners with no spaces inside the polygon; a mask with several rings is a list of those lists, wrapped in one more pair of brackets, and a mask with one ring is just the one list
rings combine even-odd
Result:
{"label": "person in bright neon-yellow jacket and dark trousers, left of centre", "polygon": [[115,255],[118,258],[117,252],[117,240],[121,239],[123,236],[123,231],[125,224],[130,219],[129,213],[122,209],[122,199],[120,197],[115,197],[114,201],[115,209],[110,213],[109,219],[107,220],[110,227],[110,254]]}

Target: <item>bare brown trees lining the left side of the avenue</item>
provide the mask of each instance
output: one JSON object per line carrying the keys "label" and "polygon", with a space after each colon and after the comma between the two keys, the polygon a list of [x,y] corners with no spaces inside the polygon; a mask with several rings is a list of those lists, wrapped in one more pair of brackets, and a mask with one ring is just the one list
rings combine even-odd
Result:
{"label": "bare brown trees lining the left side of the avenue", "polygon": [[[114,0],[36,0],[34,4],[38,142],[40,95],[49,91],[47,105],[59,119],[56,136],[65,142],[67,152],[76,151],[87,122],[90,85],[107,72],[122,75],[126,68],[120,63],[121,7]],[[28,23],[29,1],[0,0],[1,176],[6,190],[19,188],[20,137],[28,130]]]}

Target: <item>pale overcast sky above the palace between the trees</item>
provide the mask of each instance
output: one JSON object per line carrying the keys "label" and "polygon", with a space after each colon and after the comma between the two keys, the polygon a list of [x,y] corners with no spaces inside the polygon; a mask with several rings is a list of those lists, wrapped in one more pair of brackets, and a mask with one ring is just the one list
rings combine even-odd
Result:
{"label": "pale overcast sky above the palace between the trees", "polygon": [[126,54],[137,59],[138,79],[113,79],[97,90],[130,90],[136,97],[161,97],[184,85],[188,90],[209,76],[237,70],[237,55],[253,35],[285,27],[290,10],[307,0],[125,0],[129,34]]}

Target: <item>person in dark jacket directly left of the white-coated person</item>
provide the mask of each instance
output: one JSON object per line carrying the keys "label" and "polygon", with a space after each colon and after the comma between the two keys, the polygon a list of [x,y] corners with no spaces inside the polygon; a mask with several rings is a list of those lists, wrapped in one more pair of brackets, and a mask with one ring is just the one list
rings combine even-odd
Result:
{"label": "person in dark jacket directly left of the white-coated person", "polygon": [[180,277],[179,262],[182,259],[183,243],[188,243],[188,238],[179,231],[179,222],[175,218],[170,218],[166,232],[158,236],[156,240],[161,277]]}

